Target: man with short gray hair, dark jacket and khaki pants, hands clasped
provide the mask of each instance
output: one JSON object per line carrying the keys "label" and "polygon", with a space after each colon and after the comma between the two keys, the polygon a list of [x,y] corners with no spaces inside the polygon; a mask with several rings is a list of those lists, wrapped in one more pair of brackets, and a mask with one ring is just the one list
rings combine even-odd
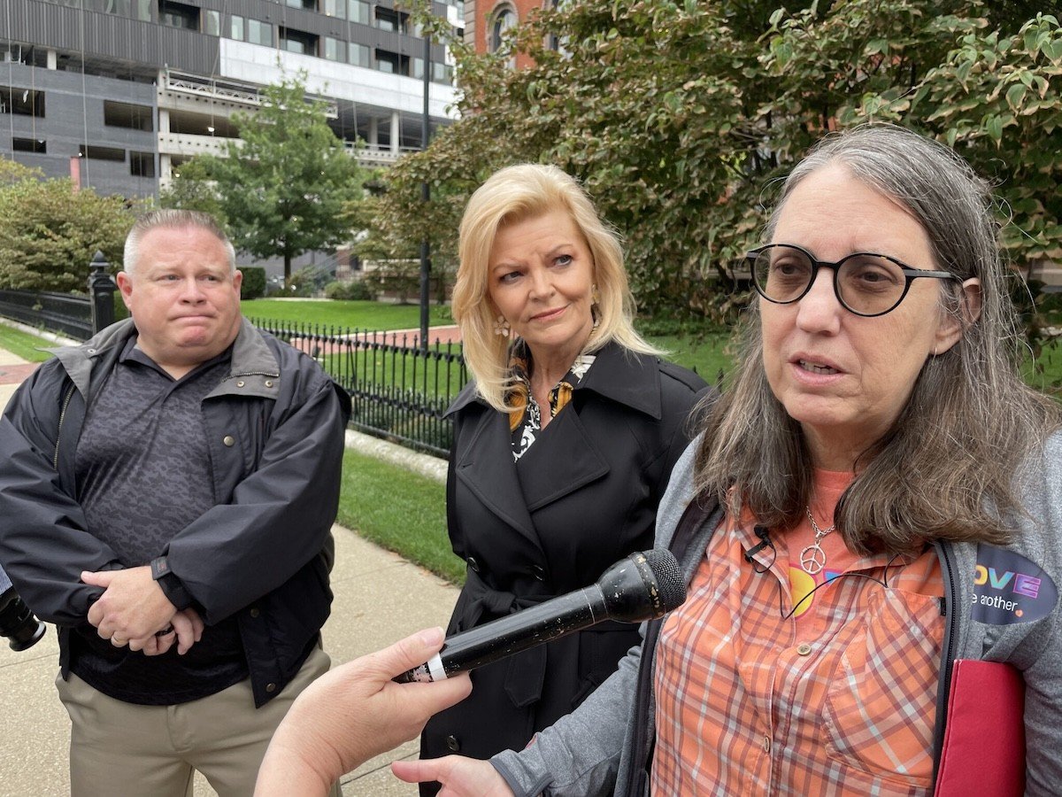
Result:
{"label": "man with short gray hair, dark jacket and khaki pants, hands clasped", "polygon": [[141,218],[131,320],[58,350],[0,421],[0,561],[59,627],[73,795],[249,795],[328,669],[349,400],[240,315],[210,217]]}

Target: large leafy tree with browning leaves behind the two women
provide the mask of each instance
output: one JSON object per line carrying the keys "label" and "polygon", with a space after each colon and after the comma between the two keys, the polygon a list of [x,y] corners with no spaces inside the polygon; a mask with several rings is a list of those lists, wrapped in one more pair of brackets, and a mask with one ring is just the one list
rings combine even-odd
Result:
{"label": "large leafy tree with browning leaves behind the two women", "polygon": [[462,118],[382,177],[386,190],[366,201],[366,245],[409,252],[427,235],[436,261],[452,262],[470,191],[501,166],[548,162],[580,177],[624,236],[644,310],[724,311],[724,277],[758,241],[775,179],[826,131],[887,119],[998,179],[1015,261],[1055,256],[1054,17],[1023,20],[1028,3],[981,0],[778,5],[567,3],[512,32],[510,47],[535,60],[520,71],[504,67],[506,48],[452,43]]}

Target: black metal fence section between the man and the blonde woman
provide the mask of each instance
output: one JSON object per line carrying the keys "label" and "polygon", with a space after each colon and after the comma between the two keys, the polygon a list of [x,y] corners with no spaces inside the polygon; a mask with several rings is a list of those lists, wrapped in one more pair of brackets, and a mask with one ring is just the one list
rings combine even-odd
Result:
{"label": "black metal fence section between the man and the blonde woman", "polygon": [[443,413],[468,379],[460,343],[417,335],[251,319],[316,359],[350,394],[350,426],[445,457],[452,424]]}

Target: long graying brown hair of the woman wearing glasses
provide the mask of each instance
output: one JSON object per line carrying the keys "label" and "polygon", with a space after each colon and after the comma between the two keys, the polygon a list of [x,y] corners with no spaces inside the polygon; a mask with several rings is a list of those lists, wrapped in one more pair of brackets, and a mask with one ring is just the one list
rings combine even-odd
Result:
{"label": "long graying brown hair of the woman wearing glasses", "polygon": [[[932,267],[976,277],[981,298],[972,318],[962,287],[942,286],[941,312],[959,320],[962,337],[926,360],[892,427],[859,457],[834,513],[837,527],[860,554],[933,539],[1005,542],[1005,518],[1021,511],[1015,475],[1062,416],[1017,372],[1020,338],[989,186],[944,145],[894,125],[863,125],[827,136],[796,165],[768,233],[793,189],[828,165],[910,213],[929,239]],[[800,424],[768,385],[758,302],[742,324],[739,366],[698,452],[698,488],[727,501],[732,512],[747,507],[759,523],[790,528],[810,497],[811,459]]]}

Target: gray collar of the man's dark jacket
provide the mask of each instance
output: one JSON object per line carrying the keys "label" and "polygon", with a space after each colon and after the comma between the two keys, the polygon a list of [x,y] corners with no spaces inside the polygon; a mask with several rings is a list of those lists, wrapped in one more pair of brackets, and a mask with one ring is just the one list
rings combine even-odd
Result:
{"label": "gray collar of the man's dark jacket", "polygon": [[[136,335],[133,319],[125,319],[100,330],[84,343],[46,351],[55,355],[70,380],[87,396],[92,368],[101,358],[125,345],[125,341],[133,335]],[[261,333],[245,318],[241,318],[233,344],[228,375],[207,397],[238,394],[276,398],[279,377],[280,366],[276,355],[270,350]]]}

